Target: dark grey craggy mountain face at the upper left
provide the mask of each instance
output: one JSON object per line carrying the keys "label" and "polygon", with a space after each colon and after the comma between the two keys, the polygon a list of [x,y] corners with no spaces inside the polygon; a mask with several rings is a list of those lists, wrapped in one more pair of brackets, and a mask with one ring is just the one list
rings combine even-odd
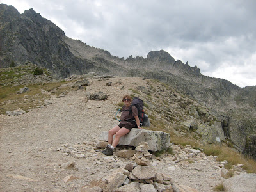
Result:
{"label": "dark grey craggy mountain face at the upper left", "polygon": [[65,33],[33,9],[19,14],[13,6],[1,4],[0,10],[3,26],[0,30],[1,67],[9,67],[12,61],[16,65],[31,62],[49,68],[56,77],[83,74],[98,68],[101,71],[101,66],[74,56],[63,41]]}

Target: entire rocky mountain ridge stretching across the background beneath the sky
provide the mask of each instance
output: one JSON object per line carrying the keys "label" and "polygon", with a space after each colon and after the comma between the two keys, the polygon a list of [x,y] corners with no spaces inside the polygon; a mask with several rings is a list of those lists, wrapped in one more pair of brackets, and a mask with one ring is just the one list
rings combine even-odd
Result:
{"label": "entire rocky mountain ridge stretching across the background beneath the sky", "polygon": [[175,61],[163,50],[151,51],[147,58],[111,56],[108,51],[68,38],[33,9],[20,14],[13,6],[0,4],[0,10],[0,67],[9,67],[14,61],[15,65],[34,63],[48,68],[61,78],[96,72],[158,79],[216,111],[220,122],[228,120],[227,139],[241,152],[256,157],[256,86],[239,88],[204,76],[198,67]]}

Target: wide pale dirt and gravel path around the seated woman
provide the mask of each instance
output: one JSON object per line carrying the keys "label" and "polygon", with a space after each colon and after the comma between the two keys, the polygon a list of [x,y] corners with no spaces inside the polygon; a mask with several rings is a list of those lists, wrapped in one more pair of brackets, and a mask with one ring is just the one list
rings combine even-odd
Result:
{"label": "wide pale dirt and gravel path around the seated woman", "polygon": [[[112,86],[106,83],[112,81]],[[51,99],[51,104],[31,109],[20,116],[0,116],[0,191],[80,191],[92,180],[103,179],[132,159],[107,157],[93,150],[102,131],[117,122],[116,104],[138,78],[91,81],[86,90]],[[137,85],[136,85],[137,84]],[[141,84],[141,83],[140,83]],[[145,81],[142,85],[147,86]],[[124,89],[121,89],[124,86]],[[103,92],[104,101],[87,100],[86,94]],[[220,184],[220,168],[213,157],[172,165],[172,157],[158,159],[157,167],[173,175],[173,180],[198,191],[212,191]],[[205,158],[205,159],[204,159]],[[76,163],[66,169],[61,164]],[[76,179],[65,182],[72,175]]]}

